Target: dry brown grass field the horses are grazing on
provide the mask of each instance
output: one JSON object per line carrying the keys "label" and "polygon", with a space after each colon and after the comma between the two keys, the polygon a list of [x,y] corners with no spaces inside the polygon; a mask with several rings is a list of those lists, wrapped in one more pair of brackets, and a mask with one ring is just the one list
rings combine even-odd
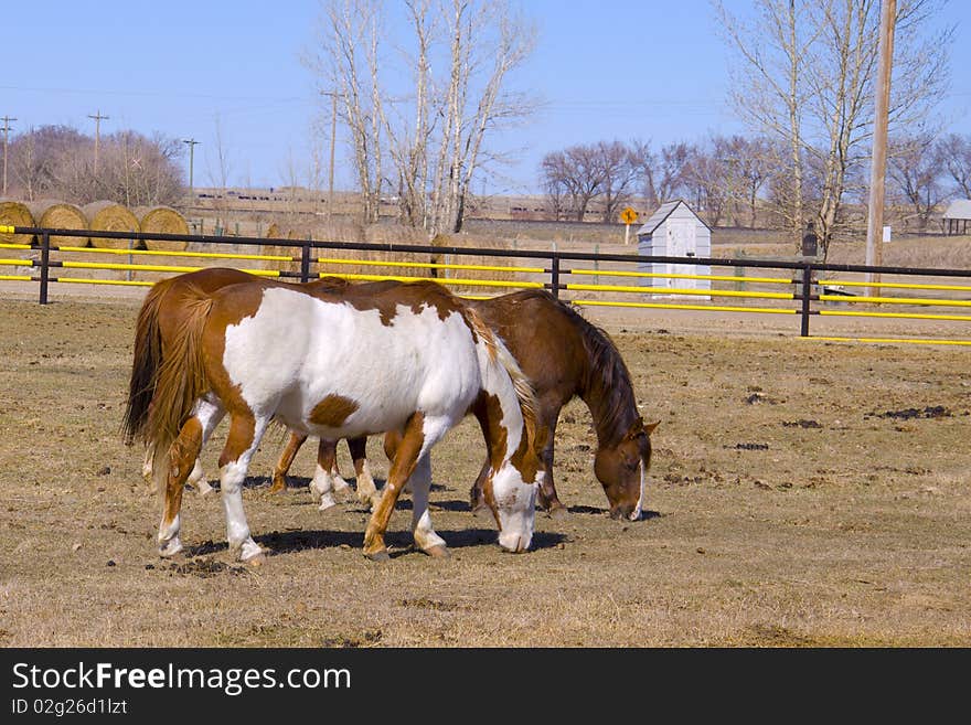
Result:
{"label": "dry brown grass field the horses are grazing on", "polygon": [[[41,307],[9,289],[2,647],[971,646],[967,349],[613,320],[644,417],[661,420],[643,520],[607,516],[575,402],[557,434],[572,513],[538,514],[533,551],[501,553],[493,522],[469,513],[483,449],[466,422],[433,456],[451,557],[409,550],[404,501],[393,558],[376,564],[361,554],[364,510],[310,502],[310,446],[292,488],[268,493],[271,433],[244,499],[273,555],[248,568],[228,557],[217,497],[186,494],[186,553],[156,554],[158,502],[119,434],[142,292]],[[383,476],[377,439],[371,460]]]}

